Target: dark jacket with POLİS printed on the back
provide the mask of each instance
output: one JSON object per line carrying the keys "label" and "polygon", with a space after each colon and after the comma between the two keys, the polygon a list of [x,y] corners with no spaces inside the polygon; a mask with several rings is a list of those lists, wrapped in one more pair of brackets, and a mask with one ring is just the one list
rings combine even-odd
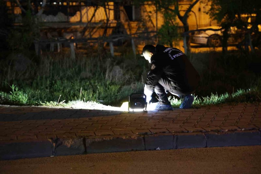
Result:
{"label": "dark jacket with POL\u0130S printed on the back", "polygon": [[160,78],[171,80],[171,84],[183,93],[195,90],[200,76],[182,51],[163,45],[157,45],[155,51],[146,80],[148,90],[153,92]]}

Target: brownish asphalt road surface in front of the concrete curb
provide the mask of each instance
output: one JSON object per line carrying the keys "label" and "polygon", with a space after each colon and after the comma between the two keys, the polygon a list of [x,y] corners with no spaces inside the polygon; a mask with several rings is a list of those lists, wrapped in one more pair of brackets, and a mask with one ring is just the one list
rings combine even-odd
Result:
{"label": "brownish asphalt road surface in front of the concrete curb", "polygon": [[0,173],[261,173],[261,146],[100,153],[0,161]]}

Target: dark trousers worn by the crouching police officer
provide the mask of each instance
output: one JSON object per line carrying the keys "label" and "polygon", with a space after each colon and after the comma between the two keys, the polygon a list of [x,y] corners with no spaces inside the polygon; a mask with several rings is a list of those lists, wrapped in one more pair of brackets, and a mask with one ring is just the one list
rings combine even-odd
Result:
{"label": "dark trousers worn by the crouching police officer", "polygon": [[168,91],[174,95],[177,95],[183,101],[186,95],[192,94],[195,90],[189,92],[183,92],[183,90],[180,89],[180,87],[173,84],[171,80],[167,78],[166,79],[160,78],[158,83],[155,85],[155,93],[159,96],[160,101],[164,103],[168,102],[168,97],[167,97]]}

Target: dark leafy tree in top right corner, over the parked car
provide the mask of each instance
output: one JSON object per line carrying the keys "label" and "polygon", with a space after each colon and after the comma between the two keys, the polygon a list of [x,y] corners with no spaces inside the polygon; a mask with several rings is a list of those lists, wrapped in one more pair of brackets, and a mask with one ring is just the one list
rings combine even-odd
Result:
{"label": "dark leafy tree in top right corner, over the parked car", "polygon": [[[231,26],[236,26],[238,29],[245,32],[245,43],[249,43],[250,33],[258,31],[258,24],[260,24],[260,10],[261,4],[259,1],[249,0],[206,0],[206,4],[210,6],[207,14],[213,19],[217,20],[223,31],[222,50],[223,53],[227,51],[227,40],[229,37],[228,31]],[[256,14],[256,20],[249,23],[247,20],[242,18],[243,14]],[[251,28],[249,29],[249,24]],[[249,43],[251,44],[251,42]],[[248,49],[245,45],[245,48]]]}

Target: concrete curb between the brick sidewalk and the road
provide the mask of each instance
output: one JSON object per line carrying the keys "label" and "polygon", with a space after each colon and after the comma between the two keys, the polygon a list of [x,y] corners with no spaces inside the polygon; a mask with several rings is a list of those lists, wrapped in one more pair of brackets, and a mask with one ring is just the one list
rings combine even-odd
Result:
{"label": "concrete curb between the brick sidewalk and the road", "polygon": [[1,141],[0,160],[143,150],[261,145],[261,133],[253,131],[160,133],[154,135],[95,138],[56,138]]}

